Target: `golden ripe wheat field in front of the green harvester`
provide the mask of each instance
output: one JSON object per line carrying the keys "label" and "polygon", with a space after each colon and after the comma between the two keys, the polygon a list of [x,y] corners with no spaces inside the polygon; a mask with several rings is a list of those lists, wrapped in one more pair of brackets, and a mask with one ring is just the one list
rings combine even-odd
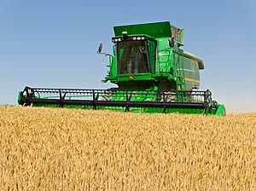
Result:
{"label": "golden ripe wheat field in front of the green harvester", "polygon": [[256,113],[0,107],[0,190],[256,190]]}

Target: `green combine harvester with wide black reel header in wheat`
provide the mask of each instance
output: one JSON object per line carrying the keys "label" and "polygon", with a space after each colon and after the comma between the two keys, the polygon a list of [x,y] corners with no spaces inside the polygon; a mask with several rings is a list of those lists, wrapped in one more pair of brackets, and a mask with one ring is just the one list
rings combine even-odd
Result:
{"label": "green combine harvester with wide black reel header in wheat", "polygon": [[170,22],[114,26],[113,55],[103,82],[108,90],[26,87],[21,106],[108,109],[136,113],[201,113],[225,115],[210,90],[199,90],[201,58],[181,49],[183,28]]}

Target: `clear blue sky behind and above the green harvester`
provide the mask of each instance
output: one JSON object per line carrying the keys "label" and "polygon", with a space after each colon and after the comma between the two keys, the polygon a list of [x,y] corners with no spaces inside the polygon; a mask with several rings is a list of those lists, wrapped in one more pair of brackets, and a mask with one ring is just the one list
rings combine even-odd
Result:
{"label": "clear blue sky behind and above the green harvester", "polygon": [[256,112],[256,1],[0,0],[0,104],[26,85],[108,88],[102,84],[113,26],[170,20],[183,49],[201,56],[201,89],[229,113]]}

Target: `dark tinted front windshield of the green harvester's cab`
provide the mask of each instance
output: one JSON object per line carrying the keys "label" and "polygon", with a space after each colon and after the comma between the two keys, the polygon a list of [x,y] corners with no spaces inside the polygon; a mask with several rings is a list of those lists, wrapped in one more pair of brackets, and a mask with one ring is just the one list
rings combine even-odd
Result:
{"label": "dark tinted front windshield of the green harvester's cab", "polygon": [[147,41],[123,41],[117,43],[118,73],[148,73]]}

